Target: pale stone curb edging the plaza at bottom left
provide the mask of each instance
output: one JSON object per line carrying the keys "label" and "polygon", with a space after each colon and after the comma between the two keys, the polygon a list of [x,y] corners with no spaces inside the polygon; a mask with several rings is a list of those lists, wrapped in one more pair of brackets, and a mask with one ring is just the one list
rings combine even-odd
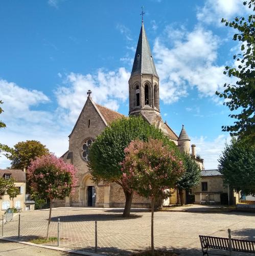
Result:
{"label": "pale stone curb edging the plaza at bottom left", "polygon": [[61,247],[53,247],[50,245],[40,245],[40,244],[34,244],[30,242],[24,242],[24,241],[19,241],[16,239],[9,239],[9,238],[0,238],[0,240],[8,241],[8,242],[15,242],[19,244],[26,244],[30,246],[35,246],[35,247],[40,247],[40,248],[46,248],[46,249],[51,249],[51,250],[56,250],[56,251],[64,251],[64,252],[69,252],[69,253],[75,253],[79,255],[88,255],[88,256],[102,256],[102,255],[107,255],[107,254],[98,254],[98,253],[92,253],[92,252],[87,252],[87,251],[79,251],[79,250],[72,250],[72,249],[66,249],[66,248],[61,248]]}

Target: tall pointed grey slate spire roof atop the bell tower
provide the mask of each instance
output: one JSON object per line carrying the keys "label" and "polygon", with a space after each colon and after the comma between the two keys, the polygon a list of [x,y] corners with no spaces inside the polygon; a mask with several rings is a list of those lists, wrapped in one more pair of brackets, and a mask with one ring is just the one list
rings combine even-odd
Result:
{"label": "tall pointed grey slate spire roof atop the bell tower", "polygon": [[146,36],[144,24],[142,24],[141,27],[136,52],[134,55],[131,76],[139,74],[152,74],[158,77],[154,61],[151,55],[151,49],[149,41]]}

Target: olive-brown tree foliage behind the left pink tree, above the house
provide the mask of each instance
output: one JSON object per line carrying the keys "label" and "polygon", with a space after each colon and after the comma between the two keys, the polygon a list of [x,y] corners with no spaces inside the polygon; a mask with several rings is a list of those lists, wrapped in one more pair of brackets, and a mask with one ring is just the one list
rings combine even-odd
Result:
{"label": "olive-brown tree foliage behind the left pink tree, above the house", "polygon": [[27,168],[36,157],[49,155],[49,150],[37,140],[21,141],[14,145],[14,152],[8,155],[12,169]]}

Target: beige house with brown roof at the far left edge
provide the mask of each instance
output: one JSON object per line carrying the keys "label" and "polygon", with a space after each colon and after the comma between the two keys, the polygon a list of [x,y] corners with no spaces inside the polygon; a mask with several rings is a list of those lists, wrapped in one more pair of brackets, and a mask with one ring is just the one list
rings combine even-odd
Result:
{"label": "beige house with brown roof at the far left edge", "polygon": [[1,212],[0,215],[5,212],[8,208],[22,208],[25,209],[25,195],[26,195],[26,173],[23,170],[19,169],[0,169],[0,177],[4,179],[15,179],[15,186],[19,188],[19,195],[14,198],[12,205],[12,200],[7,194],[5,194],[2,199],[0,199]]}

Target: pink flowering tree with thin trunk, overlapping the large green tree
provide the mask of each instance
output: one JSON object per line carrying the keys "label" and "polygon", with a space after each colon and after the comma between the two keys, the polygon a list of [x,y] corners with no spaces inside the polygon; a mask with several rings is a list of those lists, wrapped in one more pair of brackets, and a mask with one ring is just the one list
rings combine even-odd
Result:
{"label": "pink flowering tree with thin trunk, overlapping the large green tree", "polygon": [[125,148],[122,162],[123,182],[127,189],[150,198],[151,201],[151,252],[154,255],[153,218],[156,199],[170,196],[170,188],[176,185],[184,172],[182,161],[163,141],[134,140]]}

